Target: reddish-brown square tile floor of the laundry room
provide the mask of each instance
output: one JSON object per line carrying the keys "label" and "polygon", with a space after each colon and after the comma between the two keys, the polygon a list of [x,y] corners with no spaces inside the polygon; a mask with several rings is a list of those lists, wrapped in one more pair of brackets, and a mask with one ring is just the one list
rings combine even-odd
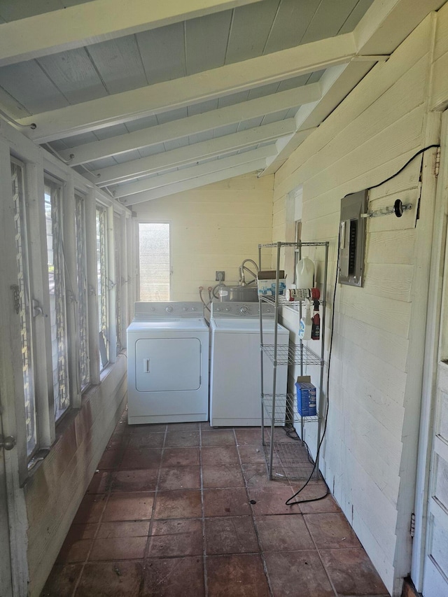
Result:
{"label": "reddish-brown square tile floor of the laundry room", "polygon": [[41,596],[388,596],[331,496],[285,505],[298,487],[267,479],[259,429],[125,413]]}

